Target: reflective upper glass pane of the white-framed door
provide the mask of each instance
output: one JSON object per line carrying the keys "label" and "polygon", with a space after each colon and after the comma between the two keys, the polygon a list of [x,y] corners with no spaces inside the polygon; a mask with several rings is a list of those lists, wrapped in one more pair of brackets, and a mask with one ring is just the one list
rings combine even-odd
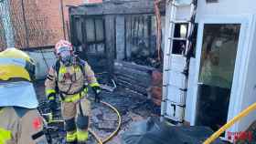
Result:
{"label": "reflective upper glass pane of the white-framed door", "polygon": [[200,83],[231,88],[239,36],[238,24],[204,26]]}

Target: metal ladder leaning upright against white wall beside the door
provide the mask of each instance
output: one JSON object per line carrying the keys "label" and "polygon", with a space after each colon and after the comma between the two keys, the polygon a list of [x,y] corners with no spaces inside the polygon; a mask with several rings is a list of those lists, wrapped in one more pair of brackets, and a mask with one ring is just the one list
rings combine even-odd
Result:
{"label": "metal ladder leaning upright against white wall beside the door", "polygon": [[[161,115],[162,118],[168,118],[171,120],[174,120],[178,123],[182,123],[184,121],[184,114],[185,114],[185,107],[186,107],[186,98],[187,98],[187,82],[188,82],[188,70],[189,70],[189,61],[190,57],[193,53],[192,50],[192,36],[194,33],[195,28],[195,17],[196,17],[196,10],[197,10],[197,0],[191,0],[191,3],[187,5],[179,5],[176,3],[177,0],[169,1],[168,3],[171,3],[171,15],[170,15],[170,29],[168,31],[168,45],[167,48],[165,48],[165,57],[164,57],[164,78],[163,78],[163,100],[162,100],[162,110]],[[177,20],[176,19],[176,11],[178,7],[181,6],[190,6],[190,19],[187,20]],[[187,26],[187,36],[184,37],[175,37],[175,26],[176,24],[188,24]],[[184,79],[184,87],[177,87],[181,92],[180,97],[185,98],[182,103],[176,103],[174,101],[171,102],[171,107],[174,108],[174,116],[168,116],[166,113],[167,105],[168,105],[168,87],[170,86],[170,71],[173,70],[171,66],[172,62],[172,51],[173,51],[173,44],[174,41],[184,41],[186,40],[186,48],[182,53],[182,56],[185,57],[185,66],[182,72],[180,72],[182,75],[185,75]],[[176,118],[176,110],[179,110],[182,114],[182,117]]]}

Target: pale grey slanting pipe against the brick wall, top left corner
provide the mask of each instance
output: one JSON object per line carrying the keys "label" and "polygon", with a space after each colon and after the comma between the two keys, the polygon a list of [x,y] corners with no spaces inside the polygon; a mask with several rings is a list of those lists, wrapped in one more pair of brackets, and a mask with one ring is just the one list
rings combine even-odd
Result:
{"label": "pale grey slanting pipe against the brick wall, top left corner", "polygon": [[9,0],[0,0],[0,19],[4,26],[5,41],[7,47],[15,47],[15,35],[10,15]]}

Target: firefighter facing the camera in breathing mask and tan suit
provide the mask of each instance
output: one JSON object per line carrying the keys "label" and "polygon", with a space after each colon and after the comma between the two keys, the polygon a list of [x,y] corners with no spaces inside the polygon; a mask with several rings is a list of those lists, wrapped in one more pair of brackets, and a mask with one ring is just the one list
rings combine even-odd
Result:
{"label": "firefighter facing the camera in breathing mask and tan suit", "polygon": [[[56,64],[49,69],[45,81],[49,108],[57,108],[57,94],[61,99],[61,114],[65,120],[67,143],[86,143],[88,139],[91,103],[87,98],[91,86],[95,96],[101,88],[90,65],[74,55],[73,46],[68,41],[60,40],[55,46],[58,57]],[[58,89],[58,90],[57,90]],[[100,101],[100,97],[96,97]]]}

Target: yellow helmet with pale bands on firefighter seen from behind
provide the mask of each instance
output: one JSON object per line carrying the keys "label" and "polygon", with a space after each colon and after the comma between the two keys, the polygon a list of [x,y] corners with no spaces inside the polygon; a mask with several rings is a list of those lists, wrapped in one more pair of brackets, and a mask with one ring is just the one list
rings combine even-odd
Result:
{"label": "yellow helmet with pale bands on firefighter seen from behind", "polygon": [[7,48],[0,52],[0,80],[32,81],[35,78],[35,63],[23,51]]}

